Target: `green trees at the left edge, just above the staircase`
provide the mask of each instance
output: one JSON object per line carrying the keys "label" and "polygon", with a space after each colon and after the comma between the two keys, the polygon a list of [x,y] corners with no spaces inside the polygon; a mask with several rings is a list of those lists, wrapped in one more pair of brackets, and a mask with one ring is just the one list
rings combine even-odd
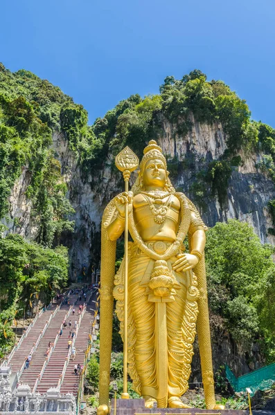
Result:
{"label": "green trees at the left edge, just above the staircase", "polygon": [[[68,252],[30,243],[17,234],[0,238],[0,347],[10,346],[13,319],[25,314],[37,301],[47,304],[66,285]],[[20,311],[19,311],[20,310]],[[7,340],[3,336],[6,323]]]}

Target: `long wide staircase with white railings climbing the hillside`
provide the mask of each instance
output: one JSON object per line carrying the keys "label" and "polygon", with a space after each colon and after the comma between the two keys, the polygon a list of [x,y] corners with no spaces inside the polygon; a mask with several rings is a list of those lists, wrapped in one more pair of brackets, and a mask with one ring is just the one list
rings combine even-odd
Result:
{"label": "long wide staircase with white railings climbing the hillside", "polygon": [[[20,372],[19,382],[28,385],[33,392],[44,394],[50,387],[60,387],[62,394],[67,394],[68,392],[73,393],[74,396],[78,394],[80,376],[74,374],[73,367],[78,365],[78,363],[84,365],[85,362],[85,352],[89,344],[89,334],[91,333],[91,322],[94,318],[94,299],[96,295],[90,297],[85,313],[82,314],[78,335],[74,342],[76,358],[73,361],[71,356],[66,366],[65,362],[69,352],[68,341],[70,340],[69,337],[71,337],[69,336],[69,331],[74,331],[75,322],[78,324],[80,317],[78,315],[79,304],[83,304],[85,301],[82,296],[82,301],[73,306],[78,296],[76,294],[69,297],[70,305],[65,304],[56,309],[56,304],[52,304],[44,313],[41,313],[33,326],[30,327],[26,338],[21,341],[19,348],[10,359],[9,365],[12,367],[12,373],[19,373],[21,368],[24,367],[26,357],[32,351],[30,365],[28,369]],[[89,297],[89,293],[87,297]],[[76,308],[75,315],[72,313],[73,308]],[[60,336],[58,335],[60,326],[62,326],[65,318],[67,326],[62,328],[62,335]],[[69,327],[69,320],[71,320],[71,327]],[[45,328],[47,322],[48,326]],[[44,335],[42,335],[43,329]],[[55,346],[52,347],[49,356],[46,356],[49,342],[55,343]],[[33,349],[35,344],[36,347]]]}

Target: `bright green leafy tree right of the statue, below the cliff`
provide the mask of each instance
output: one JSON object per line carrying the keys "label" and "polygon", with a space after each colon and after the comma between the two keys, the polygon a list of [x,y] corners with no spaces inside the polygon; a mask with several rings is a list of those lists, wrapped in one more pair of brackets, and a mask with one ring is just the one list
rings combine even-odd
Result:
{"label": "bright green leafy tree right of the statue, below the cliff", "polygon": [[[224,317],[233,338],[249,344],[265,336],[267,359],[275,340],[274,248],[262,245],[247,223],[216,223],[206,242],[209,303]],[[273,349],[274,350],[274,349]]]}

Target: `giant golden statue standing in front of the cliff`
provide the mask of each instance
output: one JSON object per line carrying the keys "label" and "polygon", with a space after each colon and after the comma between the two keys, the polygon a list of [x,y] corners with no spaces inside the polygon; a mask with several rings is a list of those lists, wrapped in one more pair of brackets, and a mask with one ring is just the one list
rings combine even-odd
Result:
{"label": "giant golden statue standing in front of the cliff", "polygon": [[[123,151],[119,156],[124,167],[118,168],[126,169],[123,175],[128,181],[137,159],[128,147]],[[123,339],[127,333],[128,373],[145,406],[151,408],[157,402],[158,407],[186,407],[180,397],[188,389],[197,329],[206,408],[218,409],[204,265],[207,228],[193,203],[172,187],[157,142],[151,140],[143,152],[132,192],[116,196],[103,214],[98,413],[106,413],[109,402],[114,298]],[[115,275],[116,239],[128,221],[133,242],[127,245]],[[186,235],[190,253],[183,244]]]}

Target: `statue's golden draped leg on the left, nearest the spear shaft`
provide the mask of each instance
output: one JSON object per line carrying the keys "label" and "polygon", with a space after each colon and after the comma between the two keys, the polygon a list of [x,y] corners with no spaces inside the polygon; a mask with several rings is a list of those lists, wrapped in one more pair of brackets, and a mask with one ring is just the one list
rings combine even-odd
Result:
{"label": "statue's golden draped leg on the left, nearest the spear shaft", "polygon": [[[157,376],[154,347],[154,303],[148,302],[146,286],[141,286],[141,279],[150,259],[145,255],[132,255],[129,266],[129,300],[136,341],[134,344],[134,360],[136,371],[141,381],[141,394],[145,400],[157,398]],[[152,405],[153,400],[150,401]],[[148,401],[149,405],[149,401]]]}

